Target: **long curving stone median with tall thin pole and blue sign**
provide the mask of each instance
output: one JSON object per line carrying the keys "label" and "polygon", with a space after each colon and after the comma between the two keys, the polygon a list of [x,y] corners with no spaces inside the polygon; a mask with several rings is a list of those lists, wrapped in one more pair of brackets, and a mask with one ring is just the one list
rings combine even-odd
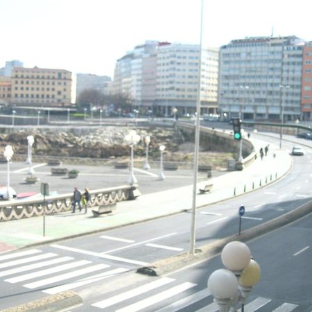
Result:
{"label": "long curving stone median with tall thin pole and blue sign", "polygon": [[246,229],[245,231],[241,232],[241,235],[234,234],[232,236],[226,237],[225,239],[219,239],[214,243],[203,245],[196,249],[195,254],[190,254],[189,252],[178,254],[177,256],[151,263],[150,266],[139,268],[136,272],[150,276],[166,275],[169,272],[179,270],[184,266],[190,266],[191,264],[195,264],[199,261],[207,260],[216,256],[216,254],[219,254],[223,247],[231,241],[246,242],[252,239],[256,239],[263,234],[267,234],[268,232],[272,232],[279,227],[288,225],[289,223],[292,223],[293,221],[302,218],[311,212],[312,200],[293,211],[289,211],[283,216],[274,218],[266,223],[252,227],[251,229]]}

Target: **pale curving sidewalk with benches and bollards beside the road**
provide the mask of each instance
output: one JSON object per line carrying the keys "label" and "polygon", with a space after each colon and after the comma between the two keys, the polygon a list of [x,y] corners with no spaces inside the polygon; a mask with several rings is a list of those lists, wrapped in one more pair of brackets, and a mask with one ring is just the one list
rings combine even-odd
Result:
{"label": "pale curving sidewalk with benches and bollards beside the road", "polygon": [[[263,141],[253,140],[256,150]],[[273,154],[276,157],[273,157]],[[268,156],[260,157],[243,171],[234,171],[200,182],[197,185],[196,207],[239,196],[244,192],[264,187],[283,177],[292,166],[292,159],[277,146],[270,146]],[[161,181],[159,181],[161,183]],[[198,189],[213,183],[211,192],[198,194]],[[92,209],[87,214],[71,211],[45,218],[45,236],[43,236],[43,217],[25,218],[0,223],[0,252],[14,250],[29,245],[52,242],[60,239],[80,236],[151,220],[161,216],[176,214],[191,209],[193,185],[159,191],[139,196],[136,200],[119,202],[114,214],[94,218]]]}

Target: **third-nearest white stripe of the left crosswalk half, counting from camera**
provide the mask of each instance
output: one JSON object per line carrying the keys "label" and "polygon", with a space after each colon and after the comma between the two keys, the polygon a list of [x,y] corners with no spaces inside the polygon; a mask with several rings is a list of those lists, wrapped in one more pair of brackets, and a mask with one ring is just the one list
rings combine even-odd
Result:
{"label": "third-nearest white stripe of the left crosswalk half, counting from camera", "polygon": [[8,283],[18,283],[19,281],[26,281],[27,279],[34,279],[35,277],[42,277],[44,275],[49,275],[56,272],[62,272],[64,270],[70,270],[71,268],[78,268],[78,266],[85,266],[91,263],[91,261],[80,260],[76,262],[62,264],[62,266],[55,266],[53,268],[48,268],[45,270],[35,271],[24,275],[19,275],[17,277],[12,277],[10,279],[5,279]]}

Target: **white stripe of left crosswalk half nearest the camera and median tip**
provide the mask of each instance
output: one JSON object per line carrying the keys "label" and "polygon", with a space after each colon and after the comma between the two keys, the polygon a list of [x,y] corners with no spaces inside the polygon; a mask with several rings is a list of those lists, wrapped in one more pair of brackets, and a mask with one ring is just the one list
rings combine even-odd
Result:
{"label": "white stripe of left crosswalk half nearest the camera and median tip", "polygon": [[49,293],[50,295],[54,295],[55,293],[60,293],[62,291],[69,291],[70,289],[77,288],[80,286],[85,286],[87,284],[92,284],[95,281],[101,281],[102,279],[107,279],[108,277],[112,277],[114,275],[123,273],[123,272],[128,272],[129,269],[125,268],[116,268],[104,273],[99,273],[96,275],[92,275],[90,277],[87,277],[86,279],[76,281],[74,283],[69,283],[61,286],[55,286],[49,289],[46,289],[46,291],[43,291],[43,293]]}

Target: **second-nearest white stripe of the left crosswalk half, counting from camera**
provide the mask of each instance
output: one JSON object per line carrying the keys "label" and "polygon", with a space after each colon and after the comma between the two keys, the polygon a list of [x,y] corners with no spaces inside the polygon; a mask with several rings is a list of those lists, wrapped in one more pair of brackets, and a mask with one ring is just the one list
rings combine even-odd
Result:
{"label": "second-nearest white stripe of the left crosswalk half, counting from camera", "polygon": [[64,273],[62,275],[56,275],[53,277],[49,277],[47,279],[41,279],[40,281],[34,281],[33,283],[25,284],[23,286],[26,288],[31,288],[31,289],[42,287],[42,286],[46,286],[49,284],[53,284],[57,281],[64,281],[64,279],[70,279],[71,277],[77,277],[79,275],[84,275],[90,272],[102,270],[103,268],[107,268],[107,266],[105,264],[96,264],[95,266],[89,266],[88,268],[83,268],[81,270]]}

